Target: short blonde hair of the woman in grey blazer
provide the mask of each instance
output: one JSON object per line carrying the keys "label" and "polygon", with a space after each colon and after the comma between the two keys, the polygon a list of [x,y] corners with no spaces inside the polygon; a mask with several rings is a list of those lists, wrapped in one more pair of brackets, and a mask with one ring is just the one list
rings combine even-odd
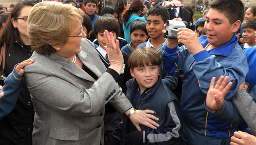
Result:
{"label": "short blonde hair of the woman in grey blazer", "polygon": [[[45,1],[35,4],[28,17],[28,36],[32,50],[48,55],[55,52],[52,45],[66,42],[74,24],[82,24],[82,14],[82,10],[60,2]],[[75,21],[76,16],[80,21]]]}

